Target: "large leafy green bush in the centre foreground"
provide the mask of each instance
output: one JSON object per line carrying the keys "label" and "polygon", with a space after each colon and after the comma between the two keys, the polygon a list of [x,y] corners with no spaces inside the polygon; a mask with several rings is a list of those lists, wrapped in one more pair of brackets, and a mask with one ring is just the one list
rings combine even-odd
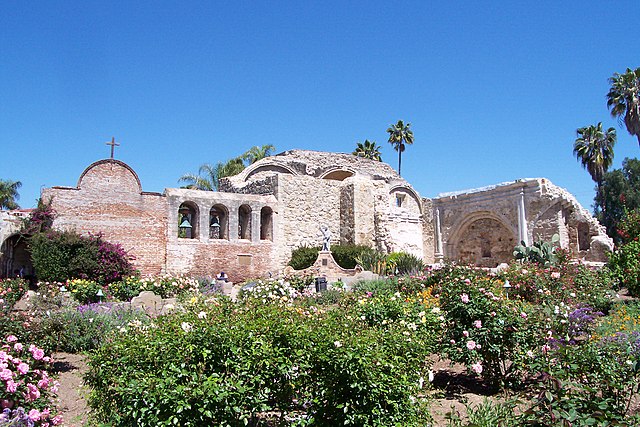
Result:
{"label": "large leafy green bush in the centre foreground", "polygon": [[197,303],[93,353],[89,403],[111,425],[417,426],[420,337],[338,308]]}

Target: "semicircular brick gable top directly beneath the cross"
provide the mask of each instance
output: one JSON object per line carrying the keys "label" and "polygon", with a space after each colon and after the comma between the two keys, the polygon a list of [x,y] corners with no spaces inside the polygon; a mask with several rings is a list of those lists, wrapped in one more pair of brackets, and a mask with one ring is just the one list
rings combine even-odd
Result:
{"label": "semicircular brick gable top directly beneath the cross", "polygon": [[104,185],[105,181],[117,182],[120,188],[132,193],[142,193],[138,174],[128,164],[115,159],[98,160],[90,164],[78,178],[77,188]]}

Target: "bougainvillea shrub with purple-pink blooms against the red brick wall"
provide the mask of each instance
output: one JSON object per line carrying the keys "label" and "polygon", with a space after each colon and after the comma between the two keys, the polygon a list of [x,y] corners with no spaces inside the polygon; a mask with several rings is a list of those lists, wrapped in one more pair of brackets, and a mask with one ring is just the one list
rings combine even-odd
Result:
{"label": "bougainvillea shrub with purple-pink blooms against the red brick wall", "polygon": [[29,250],[41,281],[89,279],[106,284],[133,271],[124,249],[99,235],[82,236],[73,231],[36,233],[29,239]]}

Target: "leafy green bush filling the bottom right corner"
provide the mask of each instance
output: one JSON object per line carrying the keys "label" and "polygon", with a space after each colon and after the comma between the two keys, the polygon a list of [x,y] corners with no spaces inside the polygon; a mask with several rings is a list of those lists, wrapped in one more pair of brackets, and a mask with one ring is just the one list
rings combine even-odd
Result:
{"label": "leafy green bush filling the bottom right corner", "polygon": [[639,367],[638,333],[551,346],[532,366],[544,375],[523,424],[636,426],[640,416],[629,414],[629,403],[640,391]]}

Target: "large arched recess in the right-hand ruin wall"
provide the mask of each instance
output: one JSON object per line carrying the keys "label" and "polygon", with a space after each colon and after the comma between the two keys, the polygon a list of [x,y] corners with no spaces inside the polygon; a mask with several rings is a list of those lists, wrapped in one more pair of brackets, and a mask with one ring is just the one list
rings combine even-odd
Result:
{"label": "large arched recess in the right-hand ruin wall", "polygon": [[480,267],[496,267],[513,258],[517,233],[491,212],[476,212],[461,221],[449,239],[448,256]]}

